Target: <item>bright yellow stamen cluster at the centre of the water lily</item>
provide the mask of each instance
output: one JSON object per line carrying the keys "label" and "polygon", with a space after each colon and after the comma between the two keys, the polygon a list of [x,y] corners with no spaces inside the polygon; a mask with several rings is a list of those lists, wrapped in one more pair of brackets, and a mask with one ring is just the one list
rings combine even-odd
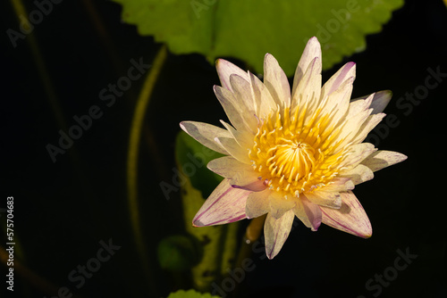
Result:
{"label": "bright yellow stamen cluster at the centre of the water lily", "polygon": [[346,151],[335,150],[337,129],[316,115],[305,124],[304,113],[289,108],[259,120],[249,158],[259,179],[278,192],[300,193],[324,186],[337,176]]}

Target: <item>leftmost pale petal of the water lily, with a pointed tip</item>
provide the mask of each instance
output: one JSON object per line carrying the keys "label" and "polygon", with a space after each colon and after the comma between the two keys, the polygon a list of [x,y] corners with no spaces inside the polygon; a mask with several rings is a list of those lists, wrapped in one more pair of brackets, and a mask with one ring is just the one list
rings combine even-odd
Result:
{"label": "leftmost pale petal of the water lily, with a pointed tip", "polygon": [[232,137],[229,131],[196,121],[181,121],[180,127],[201,145],[207,146],[215,152],[228,154],[222,145],[215,142],[215,137]]}

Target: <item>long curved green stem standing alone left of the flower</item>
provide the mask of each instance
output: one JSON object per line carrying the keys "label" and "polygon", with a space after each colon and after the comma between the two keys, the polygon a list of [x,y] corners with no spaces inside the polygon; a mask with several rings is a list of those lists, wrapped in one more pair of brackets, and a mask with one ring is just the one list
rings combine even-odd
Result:
{"label": "long curved green stem standing alone left of the flower", "polygon": [[148,77],[143,83],[141,93],[137,100],[137,105],[133,114],[131,122],[131,134],[129,138],[129,151],[127,155],[127,189],[128,189],[128,204],[129,213],[131,217],[131,228],[135,239],[139,258],[142,261],[142,267],[146,274],[149,289],[155,292],[155,280],[150,272],[150,263],[147,257],[148,249],[143,240],[141,232],[141,225],[139,219],[139,203],[138,203],[138,159],[139,159],[139,143],[141,139],[141,130],[143,121],[148,110],[148,103],[150,96],[154,91],[156,79],[163,68],[166,60],[166,47],[162,46],[156,54],[156,58],[152,64]]}

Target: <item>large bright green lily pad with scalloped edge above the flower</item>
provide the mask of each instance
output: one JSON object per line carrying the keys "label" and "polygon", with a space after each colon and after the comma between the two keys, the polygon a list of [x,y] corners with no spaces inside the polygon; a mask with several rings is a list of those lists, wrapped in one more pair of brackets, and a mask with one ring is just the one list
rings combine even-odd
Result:
{"label": "large bright green lily pad with scalloped edge above the flower", "polygon": [[154,36],[173,54],[199,53],[209,62],[234,57],[262,72],[274,54],[291,77],[308,38],[322,44],[328,69],[363,51],[365,36],[379,32],[403,0],[114,0],[122,20]]}

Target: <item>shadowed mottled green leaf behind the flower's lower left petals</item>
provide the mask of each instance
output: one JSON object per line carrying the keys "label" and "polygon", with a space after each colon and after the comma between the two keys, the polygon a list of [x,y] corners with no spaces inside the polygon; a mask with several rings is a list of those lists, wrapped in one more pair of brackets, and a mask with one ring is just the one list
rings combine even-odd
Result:
{"label": "shadowed mottled green leaf behind the flower's lower left petals", "polygon": [[205,198],[222,181],[222,177],[207,169],[207,162],[220,156],[222,154],[209,150],[183,131],[177,136],[175,158],[179,176],[183,180],[181,202],[184,224],[186,231],[197,239],[201,255],[198,264],[191,269],[194,287],[200,291],[210,291],[211,283],[222,278],[227,269],[232,268],[238,244],[239,222],[192,227],[192,219],[205,203]]}

